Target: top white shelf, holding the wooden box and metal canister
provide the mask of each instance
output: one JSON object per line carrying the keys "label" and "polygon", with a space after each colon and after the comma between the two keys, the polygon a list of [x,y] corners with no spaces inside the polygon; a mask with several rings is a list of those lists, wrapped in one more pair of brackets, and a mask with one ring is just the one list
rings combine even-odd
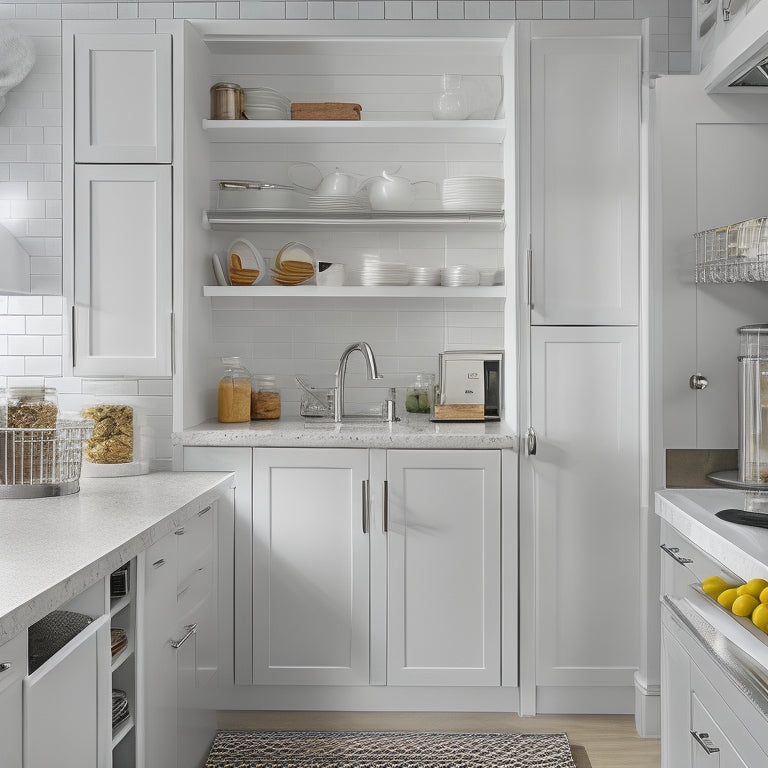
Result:
{"label": "top white shelf, holding the wooden box and metal canister", "polygon": [[505,120],[203,120],[211,141],[501,144]]}

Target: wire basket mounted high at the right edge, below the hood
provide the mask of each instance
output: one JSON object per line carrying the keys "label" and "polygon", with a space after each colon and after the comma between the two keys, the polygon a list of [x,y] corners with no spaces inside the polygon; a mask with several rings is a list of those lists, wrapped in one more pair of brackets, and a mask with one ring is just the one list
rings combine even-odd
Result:
{"label": "wire basket mounted high at the right edge, below the hood", "polygon": [[768,281],[768,217],[705,229],[694,238],[697,283]]}

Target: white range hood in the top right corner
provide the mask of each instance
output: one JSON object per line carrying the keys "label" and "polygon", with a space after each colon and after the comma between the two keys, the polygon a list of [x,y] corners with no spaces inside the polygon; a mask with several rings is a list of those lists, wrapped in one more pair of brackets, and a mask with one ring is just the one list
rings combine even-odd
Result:
{"label": "white range hood in the top right corner", "polygon": [[708,93],[768,94],[768,3],[747,3],[703,70]]}

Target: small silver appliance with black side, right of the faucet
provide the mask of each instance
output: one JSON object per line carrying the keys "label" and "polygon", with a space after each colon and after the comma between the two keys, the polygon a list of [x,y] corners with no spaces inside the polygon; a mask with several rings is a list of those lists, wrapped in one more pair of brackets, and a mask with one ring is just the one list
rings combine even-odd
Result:
{"label": "small silver appliance with black side, right of the faucet", "polygon": [[440,354],[435,421],[498,421],[503,408],[504,353],[462,350]]}

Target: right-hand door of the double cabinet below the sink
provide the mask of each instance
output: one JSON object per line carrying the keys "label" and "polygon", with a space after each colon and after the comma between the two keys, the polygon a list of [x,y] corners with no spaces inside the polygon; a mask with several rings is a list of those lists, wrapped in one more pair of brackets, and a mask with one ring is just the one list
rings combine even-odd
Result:
{"label": "right-hand door of the double cabinet below the sink", "polygon": [[501,683],[499,451],[387,451],[387,684]]}

